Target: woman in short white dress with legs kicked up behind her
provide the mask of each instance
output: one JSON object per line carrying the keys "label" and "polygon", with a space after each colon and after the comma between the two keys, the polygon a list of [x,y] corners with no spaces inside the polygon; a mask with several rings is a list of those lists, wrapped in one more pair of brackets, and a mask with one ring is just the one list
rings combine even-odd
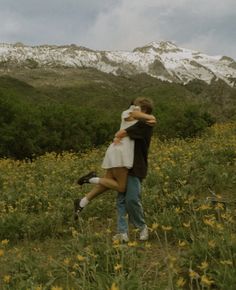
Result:
{"label": "woman in short white dress with legs kicked up behind her", "polygon": [[[120,129],[125,129],[134,125],[138,120],[143,120],[149,124],[155,124],[156,118],[150,114],[149,102],[145,98],[137,98],[133,101],[128,110],[121,114]],[[118,192],[125,192],[128,170],[133,166],[134,141],[128,136],[118,138],[115,136],[113,143],[108,147],[102,168],[106,169],[104,177],[97,177],[95,172],[82,176],[78,180],[79,185],[91,183],[103,186],[104,192],[108,189],[114,189]],[[96,188],[92,189],[81,200],[74,202],[75,218],[77,214],[91,201],[95,196]]]}

